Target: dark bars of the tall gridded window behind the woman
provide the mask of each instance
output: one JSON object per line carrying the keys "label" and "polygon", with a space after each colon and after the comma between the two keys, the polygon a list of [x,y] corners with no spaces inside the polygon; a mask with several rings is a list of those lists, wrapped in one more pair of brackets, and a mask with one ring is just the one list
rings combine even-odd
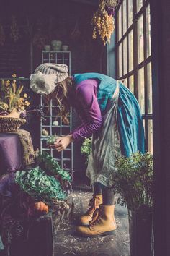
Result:
{"label": "dark bars of the tall gridded window behind the woman", "polygon": [[[128,1],[126,1],[126,15],[127,15],[127,30],[123,34],[123,1],[120,0],[119,4],[117,5],[117,12],[116,12],[116,18],[115,18],[115,27],[116,27],[116,40],[115,40],[115,48],[117,49],[117,79],[118,80],[128,80],[128,88],[130,85],[130,77],[133,75],[133,82],[134,82],[134,95],[135,97],[139,100],[139,86],[138,86],[138,71],[143,68],[144,69],[144,102],[145,102],[145,113],[142,115],[143,120],[145,120],[145,132],[146,132],[146,150],[148,150],[148,120],[152,121],[153,124],[153,109],[152,113],[148,114],[148,64],[152,64],[152,55],[147,56],[147,31],[146,31],[146,8],[150,5],[150,0],[143,0],[143,6],[140,8],[139,12],[137,12],[137,4],[136,0],[133,0],[133,22],[130,26],[128,26],[128,17],[129,17],[129,9],[128,9]],[[118,17],[118,11],[120,7],[122,6],[122,25],[121,25],[121,34],[122,37],[119,38],[119,17]],[[151,8],[151,7],[150,7]],[[143,61],[138,63],[138,19],[140,16],[143,16]],[[129,35],[130,31],[133,31],[133,70],[129,71]],[[127,40],[127,69],[128,72],[124,74],[124,53],[123,53],[123,42],[124,40]],[[119,69],[120,69],[120,64],[119,64],[119,47],[122,43],[122,76],[119,77]]]}

